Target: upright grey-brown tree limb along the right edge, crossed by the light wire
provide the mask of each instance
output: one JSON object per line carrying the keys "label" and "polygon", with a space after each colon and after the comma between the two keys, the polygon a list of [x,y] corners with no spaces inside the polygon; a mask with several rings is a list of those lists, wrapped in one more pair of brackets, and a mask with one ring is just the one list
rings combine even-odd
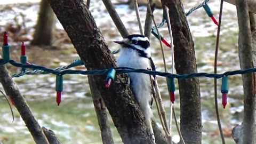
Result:
{"label": "upright grey-brown tree limb along the right edge, crossed by the light wire", "polygon": [[[245,0],[236,0],[239,26],[238,53],[241,69],[252,68],[252,39],[248,7]],[[254,73],[243,74],[244,87],[244,143],[256,143]]]}

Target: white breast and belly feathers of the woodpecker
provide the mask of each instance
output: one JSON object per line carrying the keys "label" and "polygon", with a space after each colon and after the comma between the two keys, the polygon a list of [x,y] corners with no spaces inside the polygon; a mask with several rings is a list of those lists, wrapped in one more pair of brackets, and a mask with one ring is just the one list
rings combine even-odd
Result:
{"label": "white breast and belly feathers of the woodpecker", "polygon": [[[149,49],[150,51],[150,49]],[[150,68],[150,61],[148,58],[139,57],[136,51],[122,48],[120,55],[117,58],[118,67],[131,67],[135,69]],[[128,73],[131,78],[132,91],[136,100],[141,107],[142,114],[146,119],[153,116],[149,103],[151,102],[151,82],[148,74],[143,73]]]}

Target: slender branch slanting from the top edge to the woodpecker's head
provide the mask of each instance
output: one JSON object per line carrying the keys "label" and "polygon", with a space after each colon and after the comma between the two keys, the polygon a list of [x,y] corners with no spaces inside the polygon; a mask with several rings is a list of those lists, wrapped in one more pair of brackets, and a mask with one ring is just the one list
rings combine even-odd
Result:
{"label": "slender branch slanting from the top edge to the woodpecker's head", "polygon": [[114,21],[116,28],[118,29],[119,33],[122,37],[126,37],[129,35],[127,29],[124,26],[124,23],[120,19],[119,15],[117,14],[114,5],[111,3],[110,0],[102,0],[103,4],[105,5],[111,19]]}

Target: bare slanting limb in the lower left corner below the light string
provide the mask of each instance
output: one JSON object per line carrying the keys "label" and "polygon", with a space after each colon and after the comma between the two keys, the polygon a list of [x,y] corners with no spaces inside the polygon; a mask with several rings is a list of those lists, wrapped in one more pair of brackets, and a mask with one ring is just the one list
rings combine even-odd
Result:
{"label": "bare slanting limb in the lower left corner below the light string", "polygon": [[13,100],[20,116],[28,127],[28,130],[35,142],[46,144],[49,143],[41,129],[41,126],[36,121],[29,106],[27,105],[25,99],[22,97],[17,85],[12,80],[12,77],[9,75],[9,72],[4,65],[0,65],[0,82],[3,85],[6,95],[11,97]]}

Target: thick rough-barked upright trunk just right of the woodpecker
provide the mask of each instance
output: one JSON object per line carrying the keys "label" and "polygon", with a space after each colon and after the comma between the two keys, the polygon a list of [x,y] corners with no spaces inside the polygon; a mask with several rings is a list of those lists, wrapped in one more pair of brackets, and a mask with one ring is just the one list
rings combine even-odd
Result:
{"label": "thick rough-barked upright trunk just right of the woodpecker", "polygon": [[[197,73],[194,42],[180,0],[162,0],[169,8],[174,35],[174,61],[177,74]],[[201,143],[202,117],[198,78],[178,79],[180,129],[186,143]]]}

